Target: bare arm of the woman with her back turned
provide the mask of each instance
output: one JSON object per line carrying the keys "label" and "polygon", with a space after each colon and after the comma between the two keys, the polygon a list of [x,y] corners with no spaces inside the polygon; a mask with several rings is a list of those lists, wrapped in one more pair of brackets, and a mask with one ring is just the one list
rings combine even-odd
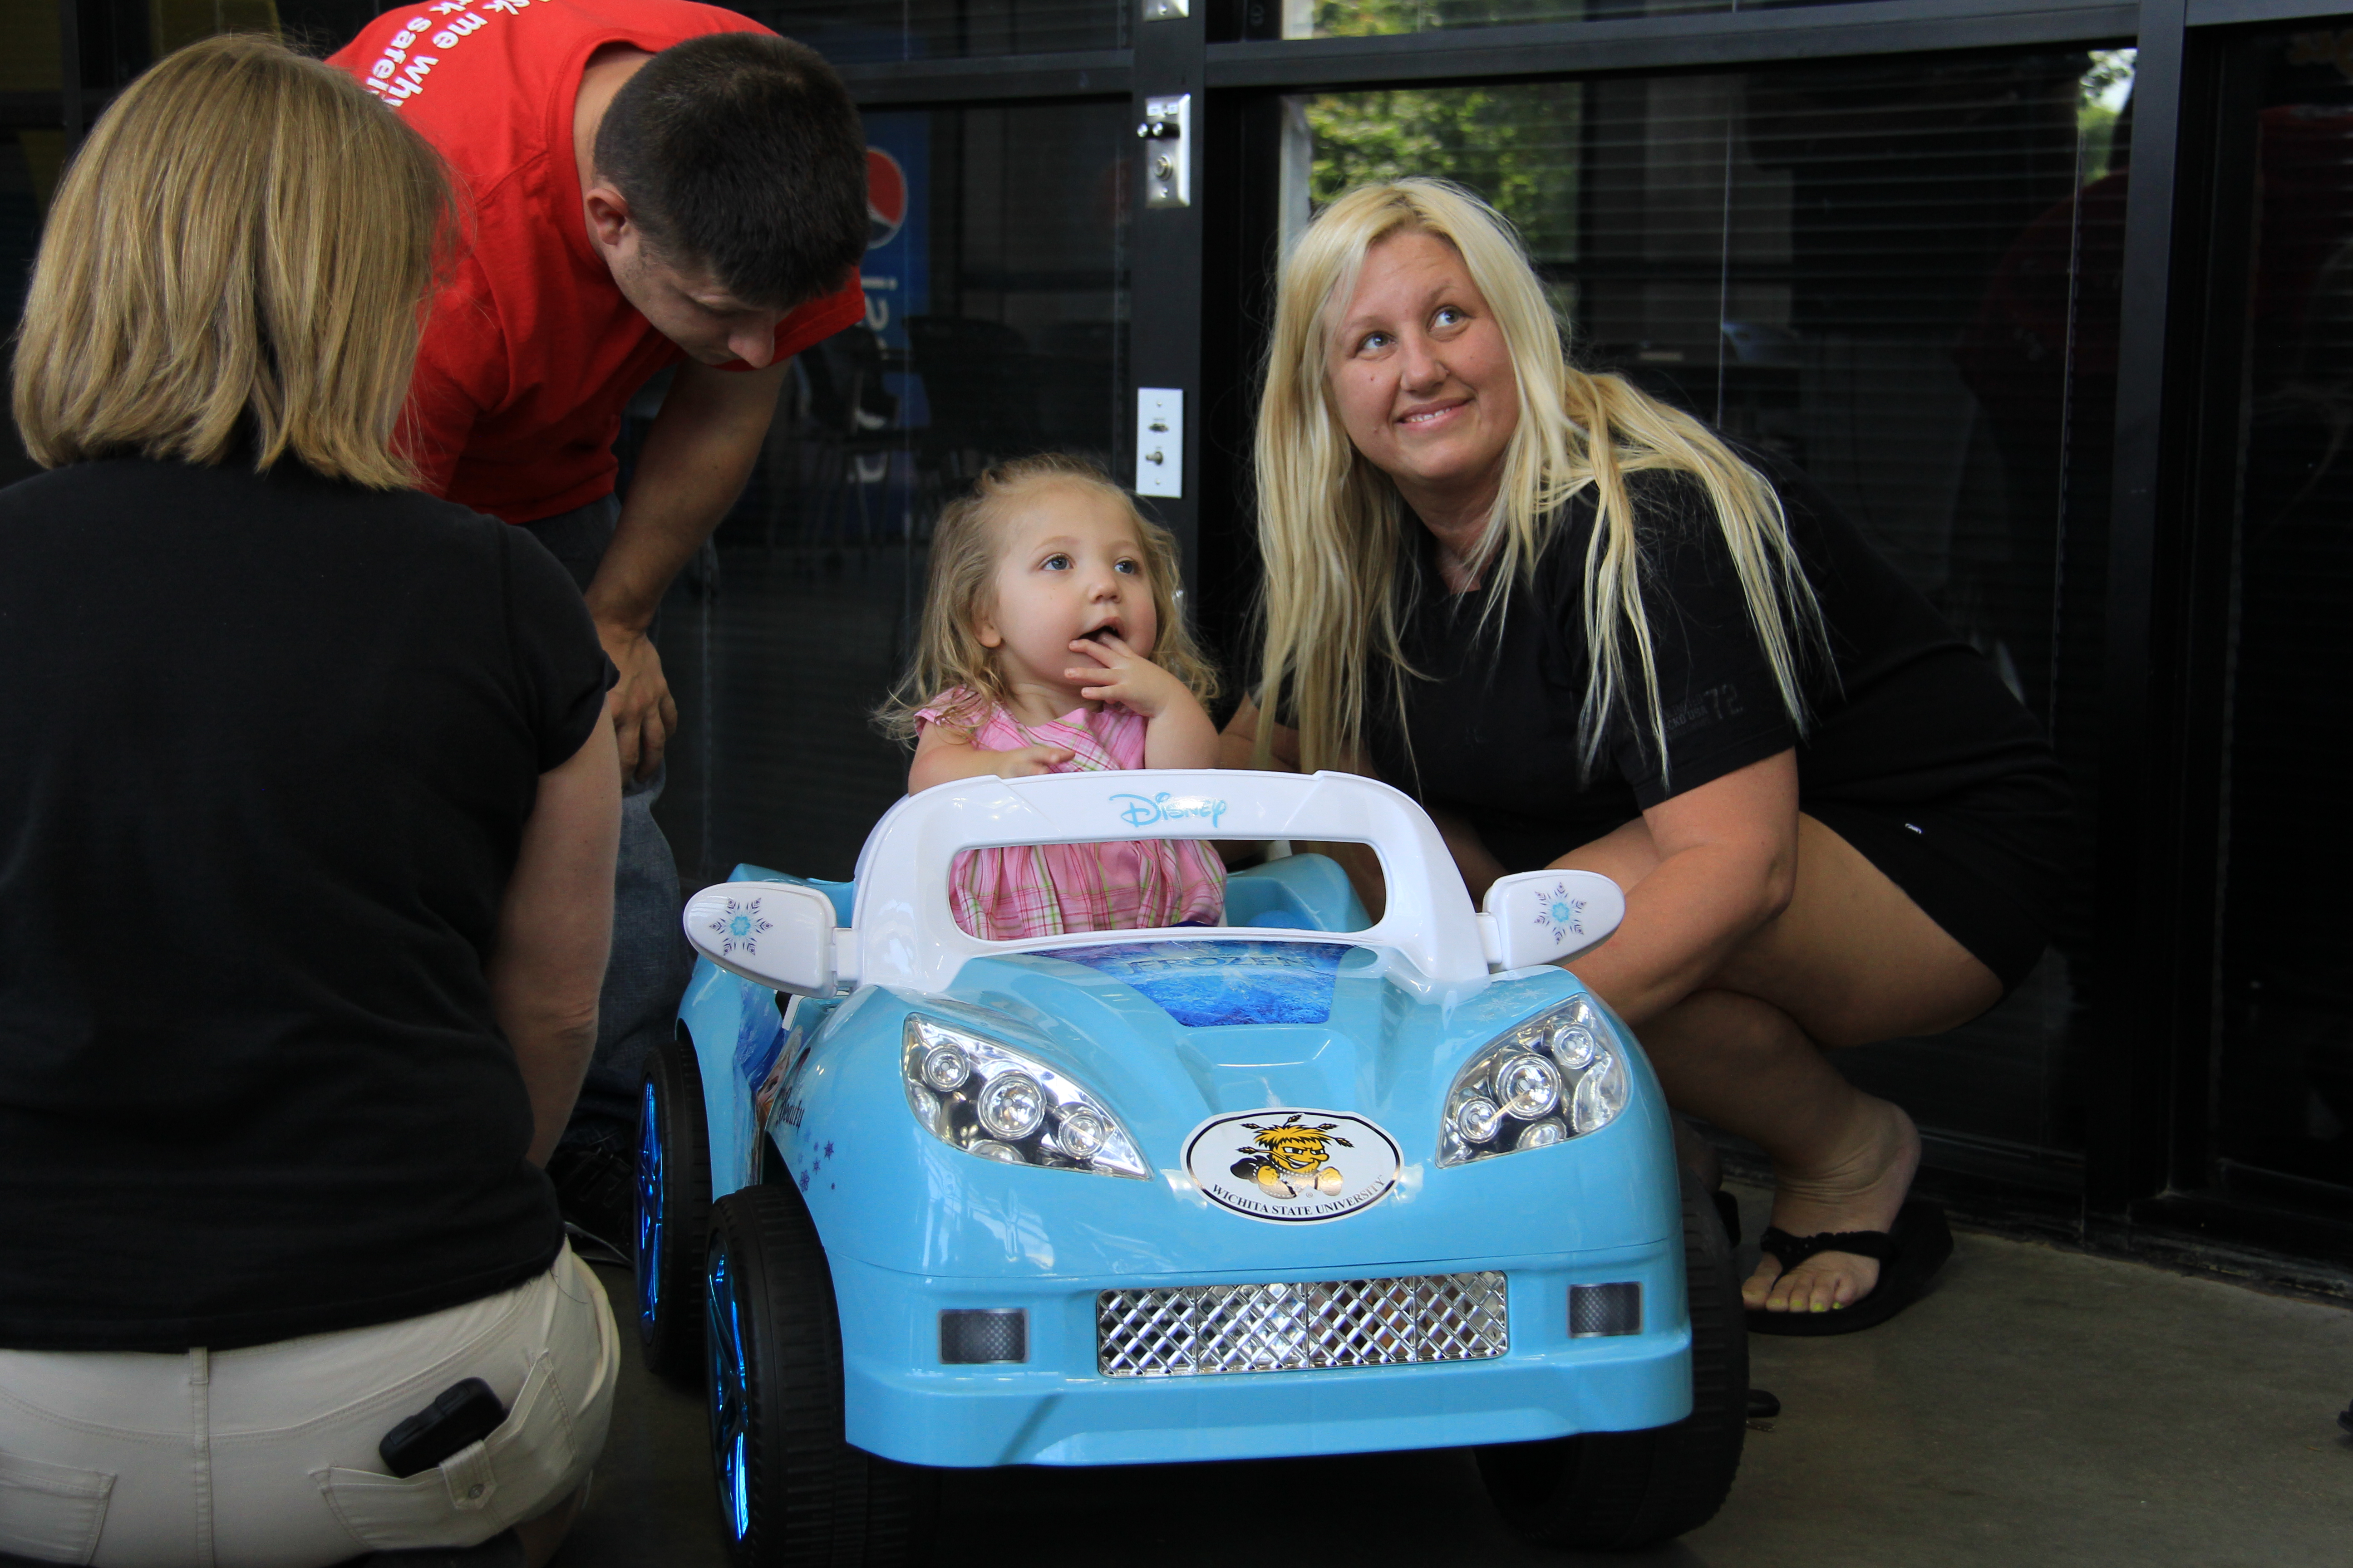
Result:
{"label": "bare arm of the woman with her back turned", "polygon": [[555,1152],[595,1051],[619,839],[621,750],[605,719],[539,776],[489,950],[489,1006],[532,1095],[534,1166]]}

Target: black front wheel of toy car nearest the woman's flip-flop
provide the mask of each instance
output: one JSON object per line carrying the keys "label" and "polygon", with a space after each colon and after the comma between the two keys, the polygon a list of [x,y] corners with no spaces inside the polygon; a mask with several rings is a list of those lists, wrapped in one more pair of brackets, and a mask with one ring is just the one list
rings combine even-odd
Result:
{"label": "black front wheel of toy car nearest the woman's flip-flop", "polygon": [[1748,1321],[1713,1199],[1685,1178],[1692,1413],[1649,1432],[1588,1432],[1478,1450],[1504,1521],[1532,1542],[1624,1552],[1697,1530],[1732,1490],[1748,1436]]}

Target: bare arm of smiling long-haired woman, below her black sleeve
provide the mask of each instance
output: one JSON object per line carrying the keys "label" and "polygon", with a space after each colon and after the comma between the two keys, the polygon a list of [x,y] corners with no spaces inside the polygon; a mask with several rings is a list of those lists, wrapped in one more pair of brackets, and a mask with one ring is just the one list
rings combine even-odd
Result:
{"label": "bare arm of smiling long-haired woman, below her black sleeve", "polygon": [[1612,835],[1553,863],[1626,886],[1626,919],[1569,971],[1638,1030],[1788,907],[1798,886],[1798,752],[1664,799],[1642,823],[1649,851]]}

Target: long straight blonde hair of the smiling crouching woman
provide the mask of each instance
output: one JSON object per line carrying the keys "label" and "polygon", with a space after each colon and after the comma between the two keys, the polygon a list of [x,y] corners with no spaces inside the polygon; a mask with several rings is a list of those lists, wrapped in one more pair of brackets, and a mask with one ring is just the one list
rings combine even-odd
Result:
{"label": "long straight blonde hair of the smiling crouching woman", "polygon": [[[1417,677],[1400,644],[1405,501],[1348,442],[1327,393],[1337,317],[1355,296],[1365,254],[1398,233],[1433,235],[1461,256],[1518,376],[1520,423],[1504,449],[1504,482],[1471,555],[1487,576],[1482,628],[1499,621],[1513,578],[1534,578],[1560,508],[1593,491],[1598,517],[1584,578],[1593,672],[1579,715],[1581,762],[1593,766],[1607,715],[1640,689],[1649,741],[1661,771],[1666,766],[1666,719],[1642,614],[1642,548],[1626,487],[1626,475],[1647,470],[1687,475],[1706,491],[1781,703],[1802,729],[1800,651],[1824,649],[1826,632],[1779,496],[1697,418],[1619,376],[1569,362],[1544,287],[1494,207],[1447,181],[1400,179],[1341,195],[1282,261],[1257,440],[1266,567],[1259,701],[1268,708],[1268,722],[1259,724],[1259,766],[1268,762],[1278,715],[1299,731],[1304,769],[1362,766],[1377,661],[1388,675],[1400,733],[1405,729],[1405,682]],[[1635,675],[1626,668],[1626,644],[1633,644]]]}

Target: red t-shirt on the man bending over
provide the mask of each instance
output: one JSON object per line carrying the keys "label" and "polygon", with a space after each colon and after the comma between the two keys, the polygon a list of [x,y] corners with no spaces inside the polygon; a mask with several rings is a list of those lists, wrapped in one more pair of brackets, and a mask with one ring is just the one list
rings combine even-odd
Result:
{"label": "red t-shirt on the man bending over", "polygon": [[[621,409],[682,350],[588,244],[572,153],[581,71],[602,45],[765,31],[692,0],[431,0],[329,56],[440,148],[471,205],[409,390],[405,442],[426,489],[508,522],[612,491]],[[852,270],[784,320],[776,357],[864,313]]]}

